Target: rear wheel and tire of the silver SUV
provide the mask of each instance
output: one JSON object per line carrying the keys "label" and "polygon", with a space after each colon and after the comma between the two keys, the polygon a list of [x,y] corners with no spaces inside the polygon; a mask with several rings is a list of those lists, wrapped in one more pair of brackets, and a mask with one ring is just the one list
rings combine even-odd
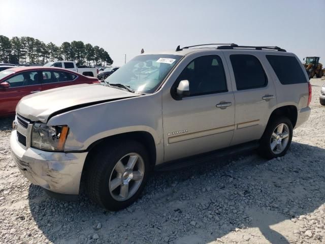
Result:
{"label": "rear wheel and tire of the silver SUV", "polygon": [[[278,127],[280,125],[283,125],[282,133],[279,133],[280,128]],[[276,129],[277,131],[275,132]],[[273,134],[273,132],[275,132],[275,134]],[[286,137],[285,137],[286,135],[285,133],[287,133]],[[277,137],[275,137],[275,135]],[[281,139],[281,137],[283,138]],[[261,155],[263,158],[266,159],[282,157],[283,155],[286,154],[286,151],[290,147],[292,139],[293,139],[293,124],[291,123],[290,119],[284,116],[271,118],[260,140],[258,153],[259,155]],[[272,149],[271,146],[273,146],[274,149]]]}

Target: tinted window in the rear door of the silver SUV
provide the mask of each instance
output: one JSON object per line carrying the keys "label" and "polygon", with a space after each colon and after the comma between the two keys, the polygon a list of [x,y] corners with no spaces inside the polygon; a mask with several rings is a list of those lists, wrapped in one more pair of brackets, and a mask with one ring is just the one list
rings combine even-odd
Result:
{"label": "tinted window in the rear door of the silver SUV", "polygon": [[232,54],[237,90],[264,87],[268,84],[267,76],[257,57],[248,54]]}

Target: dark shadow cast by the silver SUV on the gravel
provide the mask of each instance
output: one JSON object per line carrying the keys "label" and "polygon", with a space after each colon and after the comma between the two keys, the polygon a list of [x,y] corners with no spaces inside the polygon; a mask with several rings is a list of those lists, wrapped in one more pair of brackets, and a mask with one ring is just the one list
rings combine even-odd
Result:
{"label": "dark shadow cast by the silver SUV on the gravel", "polygon": [[294,228],[289,220],[325,202],[324,157],[323,148],[293,142],[281,159],[250,153],[155,172],[142,197],[118,212],[91,203],[83,191],[68,203],[31,185],[29,207],[54,243],[208,243],[231,233],[239,242],[251,227],[265,238],[258,243],[289,243],[286,236]]}

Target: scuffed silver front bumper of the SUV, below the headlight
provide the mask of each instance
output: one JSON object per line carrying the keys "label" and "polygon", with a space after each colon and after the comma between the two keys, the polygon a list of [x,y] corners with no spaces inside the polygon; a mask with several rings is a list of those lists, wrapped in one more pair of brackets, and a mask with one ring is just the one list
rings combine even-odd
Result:
{"label": "scuffed silver front bumper of the SUV, below the headlight", "polygon": [[[59,153],[29,147],[24,149],[17,141],[17,131],[10,137],[12,158],[20,172],[32,184],[55,194],[78,195],[85,153]],[[62,197],[61,197],[62,198]],[[62,198],[63,199],[63,198]]]}

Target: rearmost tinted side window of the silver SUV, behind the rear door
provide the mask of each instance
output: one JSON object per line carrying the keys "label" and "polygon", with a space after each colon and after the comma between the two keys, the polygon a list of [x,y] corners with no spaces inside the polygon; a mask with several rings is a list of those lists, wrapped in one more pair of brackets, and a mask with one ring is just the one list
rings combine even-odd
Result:
{"label": "rearmost tinted side window of the silver SUV, behind the rear door", "polygon": [[283,85],[306,83],[308,80],[294,56],[266,55],[276,76]]}

